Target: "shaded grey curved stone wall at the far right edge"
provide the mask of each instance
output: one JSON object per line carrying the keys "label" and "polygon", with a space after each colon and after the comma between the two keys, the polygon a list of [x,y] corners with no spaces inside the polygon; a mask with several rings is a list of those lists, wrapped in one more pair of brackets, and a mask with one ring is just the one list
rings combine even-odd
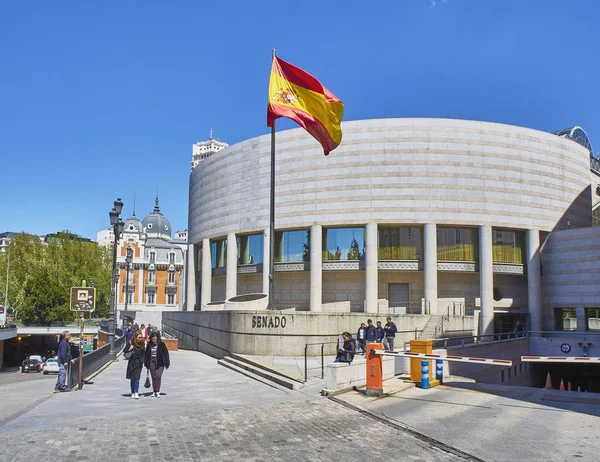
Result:
{"label": "shaded grey curved stone wall at the far right edge", "polygon": [[[554,330],[554,308],[600,307],[600,228],[551,233],[542,249],[543,329]],[[578,315],[579,317],[579,315]],[[581,324],[581,325],[579,325]],[[585,330],[585,321],[578,330]]]}

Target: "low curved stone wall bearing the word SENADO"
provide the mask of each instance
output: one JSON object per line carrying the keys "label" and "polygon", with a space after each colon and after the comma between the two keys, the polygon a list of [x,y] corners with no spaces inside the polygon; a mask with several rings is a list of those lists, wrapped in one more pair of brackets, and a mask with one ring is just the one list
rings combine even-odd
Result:
{"label": "low curved stone wall bearing the word SENADO", "polygon": [[[415,328],[423,329],[429,316],[391,316],[398,331],[396,345],[414,338]],[[373,322],[385,316],[371,316]],[[187,311],[163,313],[163,329],[179,339],[179,348],[198,350],[222,358],[230,353],[260,356],[302,356],[307,343],[326,342],[325,354],[335,354],[339,334],[353,336],[366,313]],[[266,321],[266,326],[264,325]],[[310,355],[320,354],[320,346]]]}

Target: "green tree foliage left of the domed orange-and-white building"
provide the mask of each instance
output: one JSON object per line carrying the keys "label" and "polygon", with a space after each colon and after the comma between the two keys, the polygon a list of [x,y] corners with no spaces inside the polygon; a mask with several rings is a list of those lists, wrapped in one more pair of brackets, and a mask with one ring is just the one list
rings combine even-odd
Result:
{"label": "green tree foliage left of the domed orange-and-white building", "polygon": [[66,234],[58,237],[46,244],[37,236],[15,234],[0,256],[0,280],[5,284],[10,253],[9,305],[24,324],[75,320],[76,313],[69,310],[70,289],[83,279],[88,284],[93,280],[96,288],[94,316],[108,315],[112,249],[71,240]]}

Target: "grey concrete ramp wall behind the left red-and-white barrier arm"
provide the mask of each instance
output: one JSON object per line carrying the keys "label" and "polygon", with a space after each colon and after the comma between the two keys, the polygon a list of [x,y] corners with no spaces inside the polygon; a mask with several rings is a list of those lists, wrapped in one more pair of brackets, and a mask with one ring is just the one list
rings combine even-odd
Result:
{"label": "grey concrete ramp wall behind the left red-and-white barrier arm", "polygon": [[[485,343],[481,345],[450,348],[448,349],[448,354],[478,358],[510,359],[513,362],[513,370],[516,367],[518,372],[519,365],[521,364],[521,356],[529,354],[528,351],[529,339],[523,338],[504,340],[494,343]],[[448,370],[450,375],[469,377],[478,382],[500,384],[506,383],[508,380],[508,368],[501,366],[449,362]],[[502,374],[502,370],[505,370],[504,375]],[[511,378],[513,375],[514,374],[511,373]]]}

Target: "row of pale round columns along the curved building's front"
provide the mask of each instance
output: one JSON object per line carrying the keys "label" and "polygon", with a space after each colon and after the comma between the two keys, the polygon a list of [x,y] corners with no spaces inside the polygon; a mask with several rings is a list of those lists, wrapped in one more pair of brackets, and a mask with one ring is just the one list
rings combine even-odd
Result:
{"label": "row of pale round columns along the curved building's front", "polygon": [[[377,223],[366,224],[365,242],[365,301],[366,312],[376,313],[378,299],[378,255]],[[542,330],[541,275],[540,275],[540,238],[539,231],[530,229],[526,238],[526,262],[528,302],[531,318],[531,330]],[[424,298],[428,311],[437,312],[437,226],[435,223],[423,225],[424,247]],[[263,245],[263,292],[268,293],[269,274],[269,231],[264,231]],[[323,228],[315,224],[310,227],[310,311],[321,311],[323,293]],[[210,241],[202,241],[202,290],[201,306],[211,301],[212,259]],[[494,270],[492,253],[492,227],[479,227],[479,277],[481,299],[481,334],[493,333],[494,323]],[[237,295],[237,240],[235,233],[227,235],[225,296],[227,299]]]}

